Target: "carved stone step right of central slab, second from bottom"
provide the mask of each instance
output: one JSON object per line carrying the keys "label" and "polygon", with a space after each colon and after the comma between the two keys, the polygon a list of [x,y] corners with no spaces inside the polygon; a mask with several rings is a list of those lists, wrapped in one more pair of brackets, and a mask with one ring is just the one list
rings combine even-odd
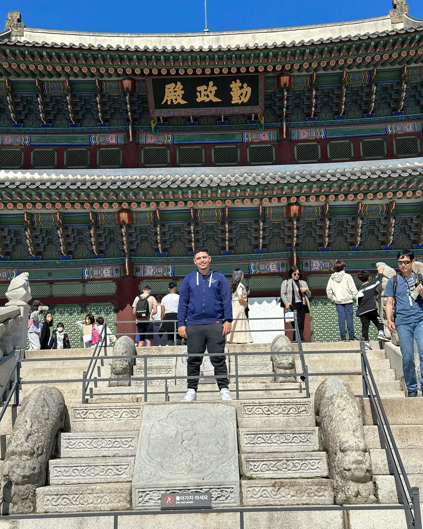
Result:
{"label": "carved stone step right of central slab, second from bottom", "polygon": [[267,479],[329,476],[326,452],[241,453],[240,470],[243,476]]}

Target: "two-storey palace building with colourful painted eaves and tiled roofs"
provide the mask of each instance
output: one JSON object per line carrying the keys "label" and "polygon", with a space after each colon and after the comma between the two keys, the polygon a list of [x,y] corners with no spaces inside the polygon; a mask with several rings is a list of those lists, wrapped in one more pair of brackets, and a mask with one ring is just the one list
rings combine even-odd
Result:
{"label": "two-storey palace building with colourful painted eaves and tiled roofs", "polygon": [[404,0],[220,33],[29,22],[0,33],[0,297],[29,271],[74,343],[76,314],[132,320],[140,282],[164,294],[200,246],[258,303],[299,265],[314,341],[337,339],[336,258],[423,257],[423,21]]}

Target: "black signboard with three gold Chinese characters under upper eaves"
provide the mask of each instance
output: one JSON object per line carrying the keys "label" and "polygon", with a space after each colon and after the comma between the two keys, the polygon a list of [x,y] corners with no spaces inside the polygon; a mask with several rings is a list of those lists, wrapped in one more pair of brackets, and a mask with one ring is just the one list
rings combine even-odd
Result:
{"label": "black signboard with three gold Chinese characters under upper eaves", "polygon": [[249,114],[264,108],[264,75],[148,77],[150,115]]}

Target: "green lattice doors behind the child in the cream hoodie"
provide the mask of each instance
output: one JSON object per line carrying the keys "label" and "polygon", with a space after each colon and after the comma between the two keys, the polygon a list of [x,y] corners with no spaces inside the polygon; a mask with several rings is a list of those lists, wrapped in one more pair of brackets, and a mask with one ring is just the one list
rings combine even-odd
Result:
{"label": "green lattice doors behind the child in the cream hoodie", "polygon": [[[356,305],[354,305],[355,314]],[[335,304],[327,297],[313,297],[310,304],[311,330],[313,342],[338,342],[339,327]],[[361,336],[360,318],[354,316],[354,332],[357,338]],[[377,338],[376,327],[371,324],[370,340]]]}

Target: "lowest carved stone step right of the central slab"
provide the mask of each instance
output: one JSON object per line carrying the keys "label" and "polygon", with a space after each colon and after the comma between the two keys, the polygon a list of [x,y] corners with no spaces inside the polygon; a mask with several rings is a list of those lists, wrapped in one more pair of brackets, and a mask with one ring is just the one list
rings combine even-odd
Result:
{"label": "lowest carved stone step right of the central slab", "polygon": [[241,479],[241,505],[245,507],[333,503],[332,479]]}

